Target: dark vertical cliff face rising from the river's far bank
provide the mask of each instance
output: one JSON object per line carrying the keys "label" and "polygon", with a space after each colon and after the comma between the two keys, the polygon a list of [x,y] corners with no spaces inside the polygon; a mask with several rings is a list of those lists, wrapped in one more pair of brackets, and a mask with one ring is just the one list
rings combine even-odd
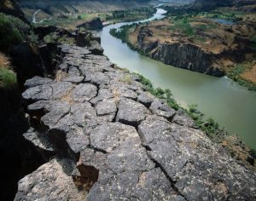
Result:
{"label": "dark vertical cliff face rising from the river's far bank", "polygon": [[193,43],[160,43],[158,41],[147,41],[148,32],[142,28],[137,36],[140,49],[154,60],[161,60],[163,63],[188,69],[194,72],[201,72],[212,76],[222,77],[224,71],[214,66],[216,55],[206,52]]}

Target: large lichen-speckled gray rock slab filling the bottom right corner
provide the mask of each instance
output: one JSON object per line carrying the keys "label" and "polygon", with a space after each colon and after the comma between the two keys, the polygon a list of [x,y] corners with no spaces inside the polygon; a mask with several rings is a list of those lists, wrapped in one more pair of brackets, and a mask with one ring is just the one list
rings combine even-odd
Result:
{"label": "large lichen-speckled gray rock slab filling the bottom right corner", "polygon": [[[165,169],[175,181],[178,191],[188,200],[224,199],[228,197],[228,192],[235,195],[239,186],[245,187],[247,192],[251,191],[249,188],[255,181],[255,173],[251,173],[251,179],[247,181],[242,179],[245,175],[234,175],[237,188],[231,187],[228,172],[230,169],[236,172],[235,169],[241,170],[242,167],[228,159],[218,146],[213,146],[201,131],[147,118],[139,126],[139,133],[145,146],[148,146],[150,158]],[[219,154],[218,157],[215,154]],[[247,185],[247,182],[251,184]],[[243,193],[240,196],[248,198]]]}

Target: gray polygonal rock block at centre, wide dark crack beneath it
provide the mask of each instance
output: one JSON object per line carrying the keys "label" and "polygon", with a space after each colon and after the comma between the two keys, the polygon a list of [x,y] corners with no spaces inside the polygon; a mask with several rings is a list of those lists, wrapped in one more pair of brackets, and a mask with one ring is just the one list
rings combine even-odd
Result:
{"label": "gray polygonal rock block at centre, wide dark crack beneath it", "polygon": [[118,108],[116,120],[130,125],[138,125],[150,113],[147,107],[131,99],[120,100]]}

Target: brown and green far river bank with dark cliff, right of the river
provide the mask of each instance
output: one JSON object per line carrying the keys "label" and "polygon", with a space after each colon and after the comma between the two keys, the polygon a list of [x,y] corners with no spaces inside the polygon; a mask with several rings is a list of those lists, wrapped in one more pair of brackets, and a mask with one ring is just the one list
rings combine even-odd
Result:
{"label": "brown and green far river bank with dark cliff, right of the river", "polygon": [[256,90],[255,30],[251,23],[256,15],[247,14],[246,18],[236,13],[233,19],[240,21],[230,24],[227,20],[212,20],[214,12],[168,14],[164,20],[121,26],[110,33],[154,60],[217,77],[227,75]]}

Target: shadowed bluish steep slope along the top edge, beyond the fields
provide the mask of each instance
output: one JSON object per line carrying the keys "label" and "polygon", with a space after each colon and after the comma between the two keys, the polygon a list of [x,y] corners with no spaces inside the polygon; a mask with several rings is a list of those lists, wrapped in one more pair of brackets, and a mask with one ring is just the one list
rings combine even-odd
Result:
{"label": "shadowed bluish steep slope along the top edge, beyond the fields", "polygon": [[75,13],[99,13],[120,9],[131,9],[152,4],[151,1],[124,1],[124,0],[98,0],[98,1],[20,1],[20,8],[26,14],[28,20],[32,19],[32,15],[40,9],[38,19],[42,20],[49,16],[60,16],[62,14],[75,14]]}

